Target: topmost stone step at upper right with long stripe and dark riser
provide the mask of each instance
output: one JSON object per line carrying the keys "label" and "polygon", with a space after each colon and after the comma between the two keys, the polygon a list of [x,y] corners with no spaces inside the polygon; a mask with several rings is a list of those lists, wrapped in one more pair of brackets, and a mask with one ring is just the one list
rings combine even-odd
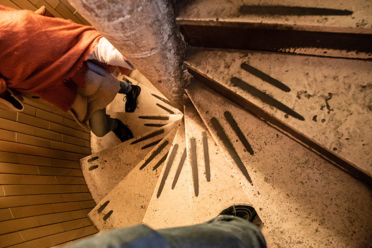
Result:
{"label": "topmost stone step at upper right with long stripe and dark riser", "polygon": [[372,55],[372,5],[366,0],[192,0],[178,8],[177,22],[194,47]]}

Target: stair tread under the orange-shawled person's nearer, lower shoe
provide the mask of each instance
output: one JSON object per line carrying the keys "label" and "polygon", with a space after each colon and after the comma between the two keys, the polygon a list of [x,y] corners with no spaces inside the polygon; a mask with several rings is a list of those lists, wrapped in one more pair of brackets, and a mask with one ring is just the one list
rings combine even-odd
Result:
{"label": "stair tread under the orange-shawled person's nearer, lower shoe", "polygon": [[[128,125],[134,137],[138,137],[158,127],[178,121],[183,116],[175,114],[138,114],[111,111],[107,111],[107,114],[112,118],[121,120],[123,124]],[[98,153],[120,143],[121,141],[116,138],[113,132],[109,132],[104,137],[97,137],[91,132],[92,153]]]}

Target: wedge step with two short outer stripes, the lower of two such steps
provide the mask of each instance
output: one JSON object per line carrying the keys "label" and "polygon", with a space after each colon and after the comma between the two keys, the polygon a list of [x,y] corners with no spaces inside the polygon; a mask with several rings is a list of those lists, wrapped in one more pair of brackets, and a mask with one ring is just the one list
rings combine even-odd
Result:
{"label": "wedge step with two short outer stripes, the lower of two such steps", "polygon": [[142,223],[178,126],[88,214],[99,231]]}

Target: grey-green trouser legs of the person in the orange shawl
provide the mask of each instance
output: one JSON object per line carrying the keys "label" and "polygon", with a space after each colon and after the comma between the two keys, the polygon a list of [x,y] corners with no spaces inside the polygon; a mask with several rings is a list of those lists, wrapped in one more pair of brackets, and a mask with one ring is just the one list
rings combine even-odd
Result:
{"label": "grey-green trouser legs of the person in the orange shawl", "polygon": [[[129,83],[120,81],[119,93],[127,94],[131,90],[132,86]],[[104,137],[106,134],[118,127],[118,123],[106,115],[106,109],[95,111],[91,119],[89,119],[89,125],[92,133],[97,137]]]}

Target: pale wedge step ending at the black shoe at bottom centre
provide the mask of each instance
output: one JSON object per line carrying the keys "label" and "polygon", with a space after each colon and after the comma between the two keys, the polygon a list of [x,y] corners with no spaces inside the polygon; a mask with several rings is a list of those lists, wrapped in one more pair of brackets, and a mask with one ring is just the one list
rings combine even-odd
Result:
{"label": "pale wedge step ending at the black shoe at bottom centre", "polygon": [[192,104],[185,106],[185,124],[192,223],[210,220],[232,204],[250,204]]}

